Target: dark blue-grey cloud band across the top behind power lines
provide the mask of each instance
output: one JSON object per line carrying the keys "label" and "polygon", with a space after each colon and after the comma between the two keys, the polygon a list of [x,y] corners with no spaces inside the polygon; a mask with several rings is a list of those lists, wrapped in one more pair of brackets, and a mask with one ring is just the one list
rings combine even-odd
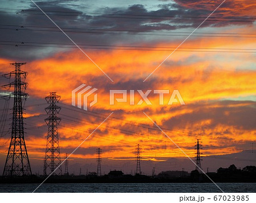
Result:
{"label": "dark blue-grey cloud band across the top behind power lines", "polygon": [[[63,4],[63,1],[37,2],[46,13],[61,27],[77,44],[136,44],[154,43],[166,38],[159,36],[144,36],[145,31],[173,31],[180,28],[197,27],[213,10],[211,3],[193,3],[177,0],[176,3],[163,3],[158,5],[154,11],[149,11],[144,5],[131,5],[129,7],[104,7],[98,13],[85,13],[77,8],[76,2]],[[76,5],[76,6],[73,6]],[[225,3],[229,9],[217,10],[216,15],[220,17],[236,16],[238,11],[230,8],[234,3]],[[236,8],[239,5],[235,5]],[[88,10],[88,9],[87,9]],[[112,15],[109,15],[112,14]],[[193,18],[193,17],[196,18]],[[241,15],[240,15],[241,16]],[[202,17],[202,18],[198,18]],[[1,13],[0,18],[5,25],[0,38],[3,41],[0,45],[0,55],[7,59],[34,60],[52,55],[55,52],[65,51],[68,48],[59,47],[60,43],[72,42],[45,16],[34,3],[30,8],[23,11],[16,11],[13,14]],[[225,22],[208,19],[201,27],[220,27],[230,24],[251,24],[253,22],[240,22],[241,19],[221,19]],[[244,20],[242,20],[244,21]],[[246,20],[245,20],[246,21]],[[23,27],[20,27],[23,26]],[[35,26],[35,27],[29,27]],[[47,28],[52,27],[52,28]],[[6,29],[7,28],[7,29]],[[78,29],[77,29],[78,28]],[[79,30],[85,29],[85,30]],[[101,29],[92,30],[92,29]],[[103,30],[102,30],[103,29]],[[113,31],[106,31],[113,30]],[[121,31],[125,30],[125,32]],[[97,32],[97,33],[96,33]],[[114,34],[113,34],[114,33]],[[126,34],[140,35],[126,35]],[[147,33],[148,34],[148,33]],[[158,33],[159,34],[159,33]],[[170,40],[170,39],[169,39]],[[23,43],[22,43],[23,42]],[[34,42],[27,43],[27,42]],[[36,43],[36,44],[35,44]],[[57,44],[45,44],[57,43]],[[18,45],[18,47],[16,46]],[[38,47],[40,46],[40,47]],[[50,46],[50,47],[46,47]],[[63,46],[63,45],[62,45]]]}

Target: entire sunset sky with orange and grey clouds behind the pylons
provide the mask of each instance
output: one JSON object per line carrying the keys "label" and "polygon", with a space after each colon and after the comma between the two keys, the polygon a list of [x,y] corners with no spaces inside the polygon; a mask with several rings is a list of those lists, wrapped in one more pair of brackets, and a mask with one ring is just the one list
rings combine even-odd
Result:
{"label": "entire sunset sky with orange and grey clouds behind the pylons", "polygon": [[[203,156],[252,149],[256,139],[255,1],[226,0],[148,78],[222,1],[35,1],[113,82],[34,3],[0,2],[0,72],[13,71],[9,63],[27,62],[22,66],[28,72],[26,92],[30,95],[24,110],[25,139],[32,172],[42,173],[47,135],[44,97],[49,92],[61,96],[62,157],[114,112],[72,155],[72,164],[96,164],[96,148],[100,147],[112,169],[118,169],[121,160],[122,164],[131,161],[135,169],[137,144],[142,159],[153,165],[185,159],[144,113],[192,159],[196,139],[203,142]],[[1,78],[0,82],[5,85],[9,80]],[[71,105],[71,91],[81,84],[98,89],[98,102],[88,111]],[[110,89],[135,90],[135,105],[130,105],[130,97],[128,102],[109,105]],[[170,90],[164,94],[164,105],[159,105],[159,96],[153,93],[157,89]],[[167,105],[174,89],[185,105]],[[152,90],[148,96],[152,105],[136,105],[141,99],[136,90]],[[1,94],[7,90],[1,88]],[[5,100],[0,102],[2,114]],[[8,128],[0,138],[0,172],[10,144]],[[244,165],[243,159],[248,158],[240,159]],[[188,169],[195,168],[189,164]]]}

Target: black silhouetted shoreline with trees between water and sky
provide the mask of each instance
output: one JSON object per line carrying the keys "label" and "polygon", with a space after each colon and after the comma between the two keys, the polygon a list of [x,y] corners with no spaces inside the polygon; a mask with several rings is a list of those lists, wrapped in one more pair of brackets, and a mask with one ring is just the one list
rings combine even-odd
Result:
{"label": "black silhouetted shoreline with trees between water and sky", "polygon": [[[215,183],[256,183],[256,177],[208,175]],[[0,184],[42,183],[47,176],[2,177]],[[205,175],[196,177],[159,178],[144,175],[123,175],[122,177],[104,176],[51,176],[44,183],[212,183]]]}

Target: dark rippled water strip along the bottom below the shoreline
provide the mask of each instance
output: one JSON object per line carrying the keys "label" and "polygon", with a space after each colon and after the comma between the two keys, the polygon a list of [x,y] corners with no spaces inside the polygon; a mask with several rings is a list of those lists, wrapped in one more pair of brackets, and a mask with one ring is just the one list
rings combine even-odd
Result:
{"label": "dark rippled water strip along the bottom below the shoreline", "polygon": [[[0,184],[0,192],[33,192],[39,184]],[[224,192],[256,192],[256,183],[217,183]],[[36,192],[221,192],[213,183],[42,184]]]}

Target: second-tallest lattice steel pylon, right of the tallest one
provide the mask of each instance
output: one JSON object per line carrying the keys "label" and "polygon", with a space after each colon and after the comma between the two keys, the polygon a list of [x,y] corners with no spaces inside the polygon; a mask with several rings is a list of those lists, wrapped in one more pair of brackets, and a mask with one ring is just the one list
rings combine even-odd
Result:
{"label": "second-tallest lattice steel pylon, right of the tallest one", "polygon": [[[44,175],[51,174],[61,164],[58,125],[61,118],[57,117],[61,107],[57,106],[60,96],[56,92],[50,92],[46,97],[49,106],[45,108],[48,118],[44,119],[48,125],[48,134],[46,142],[46,156],[44,157]],[[62,175],[61,165],[52,175]]]}

